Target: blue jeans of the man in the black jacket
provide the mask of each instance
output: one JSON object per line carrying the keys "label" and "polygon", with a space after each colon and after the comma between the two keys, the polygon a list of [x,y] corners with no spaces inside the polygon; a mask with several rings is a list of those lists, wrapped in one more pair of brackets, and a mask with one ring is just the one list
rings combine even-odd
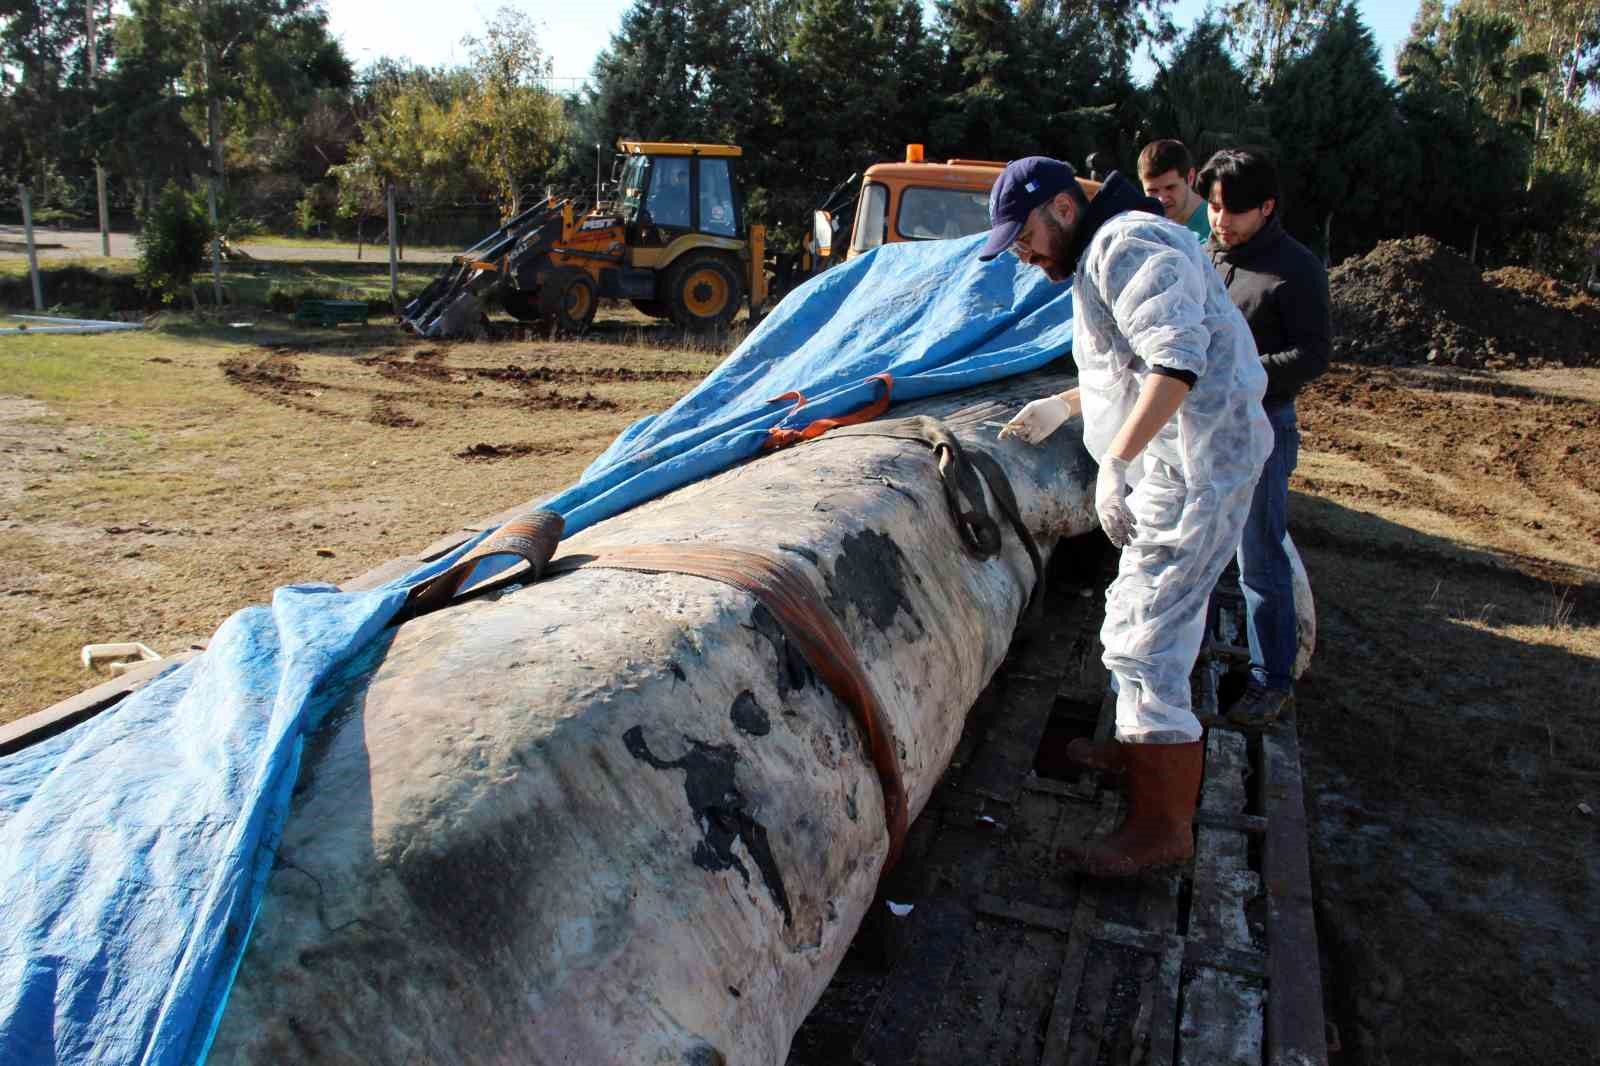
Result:
{"label": "blue jeans of the man in the black jacket", "polygon": [[1290,472],[1299,459],[1294,400],[1267,405],[1274,445],[1256,482],[1238,544],[1238,584],[1245,592],[1245,629],[1250,634],[1250,677],[1262,688],[1294,683],[1299,623],[1294,616],[1294,571],[1283,551],[1290,528]]}

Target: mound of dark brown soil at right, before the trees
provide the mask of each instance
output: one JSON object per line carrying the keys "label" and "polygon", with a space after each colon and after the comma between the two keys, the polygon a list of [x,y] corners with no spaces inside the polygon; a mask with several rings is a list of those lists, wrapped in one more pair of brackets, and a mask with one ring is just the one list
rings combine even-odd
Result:
{"label": "mound of dark brown soil at right, before the trees", "polygon": [[1430,237],[1328,274],[1336,359],[1442,367],[1600,365],[1600,299],[1523,267],[1480,272]]}

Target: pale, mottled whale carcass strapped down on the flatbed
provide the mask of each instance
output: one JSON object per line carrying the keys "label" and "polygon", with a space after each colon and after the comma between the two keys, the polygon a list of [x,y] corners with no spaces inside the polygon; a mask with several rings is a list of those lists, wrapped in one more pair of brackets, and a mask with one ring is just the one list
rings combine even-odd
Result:
{"label": "pale, mottled whale carcass strapped down on the flatbed", "polygon": [[[1093,530],[1080,434],[995,440],[1070,378],[898,408],[1005,469],[1038,539]],[[915,815],[1035,584],[963,549],[933,453],[827,435],[562,544],[787,560],[843,631]],[[214,1063],[778,1064],[890,852],[851,711],[752,594],[584,568],[408,621],[307,746]]]}

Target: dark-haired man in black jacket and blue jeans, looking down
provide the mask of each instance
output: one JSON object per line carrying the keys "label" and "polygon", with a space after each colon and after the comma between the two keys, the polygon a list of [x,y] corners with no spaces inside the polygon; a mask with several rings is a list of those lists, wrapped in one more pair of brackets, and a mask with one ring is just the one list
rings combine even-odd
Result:
{"label": "dark-haired man in black jacket and blue jeans, looking down", "polygon": [[1262,152],[1224,149],[1200,170],[1211,219],[1206,248],[1227,295],[1243,312],[1267,370],[1262,405],[1274,448],[1238,546],[1250,631],[1250,683],[1229,709],[1235,725],[1270,725],[1293,698],[1299,629],[1294,573],[1285,547],[1290,472],[1299,455],[1294,394],[1328,368],[1333,325],[1328,272],[1278,219],[1278,174]]}

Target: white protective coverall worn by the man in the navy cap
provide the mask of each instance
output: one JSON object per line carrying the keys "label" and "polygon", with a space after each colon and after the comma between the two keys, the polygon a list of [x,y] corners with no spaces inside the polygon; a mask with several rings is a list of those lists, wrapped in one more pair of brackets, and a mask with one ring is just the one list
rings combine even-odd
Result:
{"label": "white protective coverall worn by the man in the navy cap", "polygon": [[1117,739],[1200,739],[1189,674],[1206,603],[1234,557],[1272,426],[1267,375],[1243,315],[1194,232],[1123,211],[1093,235],[1074,274],[1072,354],[1083,443],[1106,455],[1152,365],[1195,384],[1128,466],[1133,539],[1106,592],[1101,642],[1117,685]]}

